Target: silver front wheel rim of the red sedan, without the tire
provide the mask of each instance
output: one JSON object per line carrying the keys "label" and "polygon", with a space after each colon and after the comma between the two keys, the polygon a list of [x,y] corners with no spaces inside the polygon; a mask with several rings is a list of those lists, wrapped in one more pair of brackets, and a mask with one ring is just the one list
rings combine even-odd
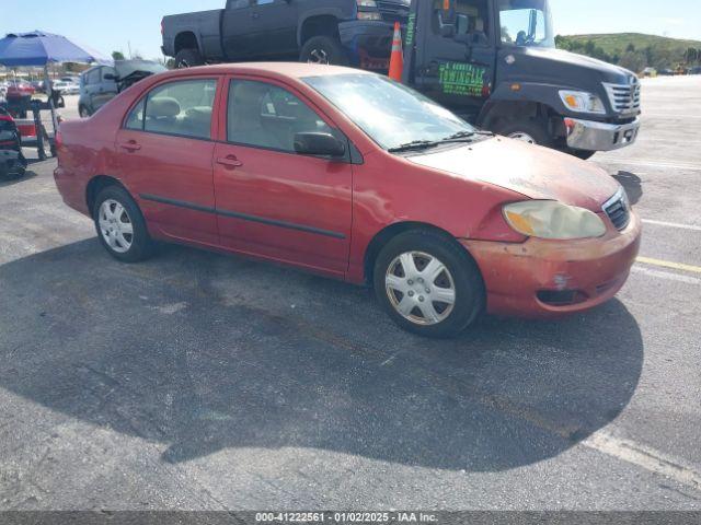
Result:
{"label": "silver front wheel rim of the red sedan, without the tire", "polygon": [[406,252],[400,255],[390,264],[384,284],[397,313],[415,325],[437,325],[455,308],[452,275],[430,254]]}

